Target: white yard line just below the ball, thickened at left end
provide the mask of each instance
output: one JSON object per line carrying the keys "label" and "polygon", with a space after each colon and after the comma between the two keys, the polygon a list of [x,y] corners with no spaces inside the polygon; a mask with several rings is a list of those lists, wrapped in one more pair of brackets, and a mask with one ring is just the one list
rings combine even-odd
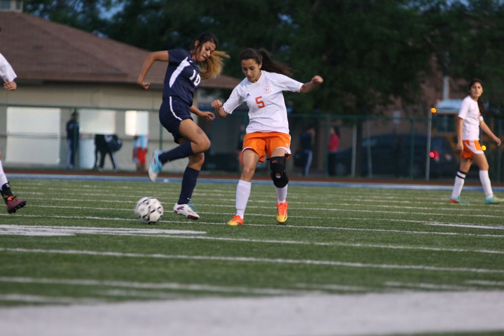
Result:
{"label": "white yard line just below the ball, thickened at left end", "polygon": [[[171,231],[183,234],[171,234]],[[463,253],[487,253],[504,254],[500,250],[481,250],[464,248],[445,248],[429,246],[406,246],[406,245],[386,245],[386,244],[366,244],[366,243],[342,243],[342,242],[310,242],[299,240],[277,240],[277,239],[250,239],[250,238],[229,238],[229,237],[211,237],[204,235],[203,231],[196,231],[198,235],[187,235],[194,231],[185,230],[158,230],[158,229],[121,229],[121,228],[92,228],[76,226],[38,226],[38,225],[0,225],[0,235],[47,235],[71,236],[74,234],[99,234],[99,235],[117,235],[117,236],[147,236],[156,238],[174,238],[174,239],[200,239],[215,241],[239,241],[249,243],[265,244],[294,244],[294,245],[313,245],[313,246],[346,246],[358,248],[387,248],[401,250],[420,250],[420,251],[439,251],[439,252],[463,252]]]}

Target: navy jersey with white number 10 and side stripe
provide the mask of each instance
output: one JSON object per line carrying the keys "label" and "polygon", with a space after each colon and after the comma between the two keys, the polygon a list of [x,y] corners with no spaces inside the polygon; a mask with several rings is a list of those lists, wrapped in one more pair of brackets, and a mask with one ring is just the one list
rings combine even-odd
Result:
{"label": "navy jersey with white number 10 and side stripe", "polygon": [[168,68],[164,77],[163,100],[173,97],[188,106],[193,105],[194,91],[200,85],[198,64],[182,49],[168,50]]}

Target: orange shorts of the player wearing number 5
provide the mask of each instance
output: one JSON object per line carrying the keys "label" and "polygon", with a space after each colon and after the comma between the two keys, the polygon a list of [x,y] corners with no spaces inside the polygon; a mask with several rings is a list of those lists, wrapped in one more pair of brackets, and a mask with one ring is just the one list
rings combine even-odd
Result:
{"label": "orange shorts of the player wearing number 5", "polygon": [[243,151],[251,149],[259,155],[259,161],[264,161],[265,156],[271,158],[271,153],[283,148],[290,156],[290,135],[280,132],[253,132],[247,133],[243,138]]}

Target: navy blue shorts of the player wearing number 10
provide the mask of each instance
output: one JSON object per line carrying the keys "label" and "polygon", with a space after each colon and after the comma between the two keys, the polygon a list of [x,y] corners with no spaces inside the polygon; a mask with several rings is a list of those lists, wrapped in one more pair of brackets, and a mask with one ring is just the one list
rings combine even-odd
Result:
{"label": "navy blue shorts of the player wearing number 10", "polygon": [[163,100],[159,108],[159,121],[171,133],[177,144],[180,138],[180,133],[178,132],[180,121],[184,119],[193,120],[190,108],[191,106],[187,106],[186,103],[172,97],[169,97],[168,100]]}

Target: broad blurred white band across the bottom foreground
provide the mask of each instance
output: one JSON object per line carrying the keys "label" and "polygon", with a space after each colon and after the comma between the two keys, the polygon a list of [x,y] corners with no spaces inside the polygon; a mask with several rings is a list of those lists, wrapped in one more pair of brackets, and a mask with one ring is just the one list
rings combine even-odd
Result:
{"label": "broad blurred white band across the bottom foreground", "polygon": [[504,292],[199,298],[0,308],[6,335],[356,336],[504,329]]}

